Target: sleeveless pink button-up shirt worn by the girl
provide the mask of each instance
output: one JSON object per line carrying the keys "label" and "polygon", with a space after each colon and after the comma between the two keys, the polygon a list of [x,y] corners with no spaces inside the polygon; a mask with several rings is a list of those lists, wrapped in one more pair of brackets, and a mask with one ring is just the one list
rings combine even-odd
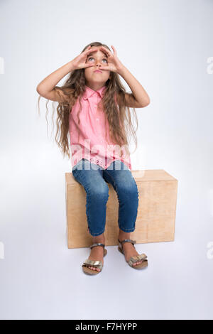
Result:
{"label": "sleeveless pink button-up shirt worn by the girl", "polygon": [[[119,156],[121,147],[112,143],[109,139],[109,123],[101,110],[97,110],[97,104],[104,96],[106,86],[99,90],[92,90],[85,86],[82,96],[82,110],[79,112],[80,124],[78,124],[77,112],[80,109],[79,97],[70,112],[70,144],[72,153],[72,168],[85,158],[92,163],[107,169],[111,162],[120,160],[131,170],[131,159],[122,146],[123,156]],[[80,129],[78,137],[77,129]],[[109,143],[107,143],[107,140]]]}

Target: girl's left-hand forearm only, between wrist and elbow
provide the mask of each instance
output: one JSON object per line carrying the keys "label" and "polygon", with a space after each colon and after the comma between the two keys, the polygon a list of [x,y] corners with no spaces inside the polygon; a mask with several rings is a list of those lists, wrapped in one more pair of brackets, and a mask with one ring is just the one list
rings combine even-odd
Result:
{"label": "girl's left-hand forearm only, between wrist and elbow", "polygon": [[55,70],[53,73],[48,75],[48,77],[45,77],[37,86],[36,90],[42,91],[42,92],[50,92],[54,89],[54,87],[62,80],[65,75],[67,75],[69,72],[74,70],[74,67],[72,65],[72,61],[69,63],[63,65],[61,68],[58,68],[58,70]]}

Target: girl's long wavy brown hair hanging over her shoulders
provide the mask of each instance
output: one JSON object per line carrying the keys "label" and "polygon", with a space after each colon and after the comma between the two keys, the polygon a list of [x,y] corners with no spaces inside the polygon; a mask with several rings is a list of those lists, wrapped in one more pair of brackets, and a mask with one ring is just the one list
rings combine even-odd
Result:
{"label": "girl's long wavy brown hair hanging over her shoulders", "polygon": [[[84,47],[82,52],[88,48],[88,46],[101,46],[103,45],[105,48],[109,47],[105,44],[99,42],[89,43],[87,46]],[[110,49],[109,49],[110,50]],[[111,50],[110,50],[111,51]],[[136,115],[135,108],[133,109],[133,115],[136,119],[136,129],[133,128],[133,123],[131,122],[131,112],[129,107],[125,105],[125,87],[122,85],[119,75],[116,72],[110,72],[110,78],[105,82],[106,89],[104,90],[104,96],[102,100],[99,102],[98,108],[102,107],[105,120],[109,122],[109,136],[111,141],[114,144],[119,146],[124,146],[126,149],[127,154],[130,154],[129,151],[129,138],[132,135],[133,140],[136,144],[137,149],[137,137],[136,131],[138,129],[138,119]],[[81,99],[82,95],[85,91],[85,77],[84,77],[84,68],[80,70],[72,70],[70,72],[70,76],[66,80],[65,84],[61,87],[55,86],[55,92],[58,95],[58,107],[57,107],[57,114],[58,118],[56,120],[57,131],[55,134],[55,141],[60,147],[63,156],[67,154],[70,158],[70,145],[69,145],[69,117],[70,112],[72,112],[72,107],[75,104],[78,97],[80,97],[80,110],[77,113],[79,123],[79,113],[82,110]],[[63,94],[61,94],[61,92]],[[131,95],[131,93],[128,93]],[[118,97],[117,103],[114,97]],[[38,113],[40,114],[39,109],[39,101],[40,97],[38,97]],[[48,122],[48,101],[46,102],[46,109],[47,112],[45,114],[46,121]],[[53,116],[55,113],[55,106],[53,101]],[[53,117],[52,117],[53,121]],[[54,124],[53,124],[54,127]],[[80,131],[78,130],[78,133]],[[71,134],[72,136],[72,134]],[[98,144],[98,143],[97,143]],[[135,149],[135,151],[136,151]],[[121,153],[122,155],[122,153]]]}

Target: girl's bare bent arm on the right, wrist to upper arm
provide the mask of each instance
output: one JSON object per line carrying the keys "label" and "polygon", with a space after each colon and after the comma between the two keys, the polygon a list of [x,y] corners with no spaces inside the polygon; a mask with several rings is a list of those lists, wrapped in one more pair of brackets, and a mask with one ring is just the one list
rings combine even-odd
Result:
{"label": "girl's bare bent arm on the right, wrist to upper arm", "polygon": [[126,107],[143,108],[148,106],[148,104],[150,104],[150,98],[148,97],[146,90],[144,90],[140,82],[133,77],[131,72],[129,72],[129,70],[122,65],[118,70],[118,73],[124,78],[132,91],[131,94],[125,94]]}

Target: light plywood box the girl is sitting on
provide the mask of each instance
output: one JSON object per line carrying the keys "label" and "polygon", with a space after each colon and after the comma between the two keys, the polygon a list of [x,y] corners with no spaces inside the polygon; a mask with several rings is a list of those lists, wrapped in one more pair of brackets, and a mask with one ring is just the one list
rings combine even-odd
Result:
{"label": "light plywood box the girl is sitting on", "polygon": [[[137,244],[168,242],[175,239],[175,215],[178,180],[163,169],[131,171],[139,193],[136,229],[131,239]],[[89,247],[92,235],[87,230],[86,191],[72,173],[65,173],[67,247]],[[105,245],[118,244],[119,201],[113,186],[109,186],[105,227]]]}

